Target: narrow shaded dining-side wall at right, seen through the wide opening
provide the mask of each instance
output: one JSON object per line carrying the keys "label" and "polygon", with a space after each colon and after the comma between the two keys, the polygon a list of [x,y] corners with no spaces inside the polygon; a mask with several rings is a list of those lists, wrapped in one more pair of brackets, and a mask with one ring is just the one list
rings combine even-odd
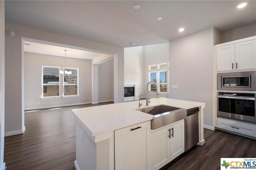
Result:
{"label": "narrow shaded dining-side wall at right, seen through the wide opening", "polygon": [[98,102],[114,101],[114,60],[98,65]]}

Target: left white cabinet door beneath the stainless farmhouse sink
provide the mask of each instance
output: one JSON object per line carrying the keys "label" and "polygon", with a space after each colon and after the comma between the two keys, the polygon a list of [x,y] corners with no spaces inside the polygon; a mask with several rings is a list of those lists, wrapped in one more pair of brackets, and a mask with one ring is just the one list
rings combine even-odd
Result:
{"label": "left white cabinet door beneath the stainless farmhouse sink", "polygon": [[148,142],[148,169],[158,170],[170,162],[170,127],[150,133]]}

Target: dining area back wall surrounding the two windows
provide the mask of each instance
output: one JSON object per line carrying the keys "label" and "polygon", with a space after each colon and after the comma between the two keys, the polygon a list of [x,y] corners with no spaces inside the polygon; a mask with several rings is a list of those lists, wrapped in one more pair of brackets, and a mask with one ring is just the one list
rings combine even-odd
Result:
{"label": "dining area back wall surrounding the two windows", "polygon": [[[67,67],[79,69],[79,97],[41,100],[42,66],[65,67],[65,58],[35,53],[24,53],[24,99],[25,110],[75,105],[91,102],[91,60],[67,57]],[[60,76],[63,81],[63,75]],[[60,83],[60,95],[63,87]],[[86,100],[84,98],[86,97]],[[40,102],[40,103],[38,103]]]}

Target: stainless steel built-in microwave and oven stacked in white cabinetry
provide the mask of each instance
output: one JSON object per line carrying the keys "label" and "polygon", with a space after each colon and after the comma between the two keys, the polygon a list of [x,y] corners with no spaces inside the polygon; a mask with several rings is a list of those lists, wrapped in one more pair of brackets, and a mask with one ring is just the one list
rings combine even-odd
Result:
{"label": "stainless steel built-in microwave and oven stacked in white cabinetry", "polygon": [[218,73],[219,117],[256,123],[256,71]]}

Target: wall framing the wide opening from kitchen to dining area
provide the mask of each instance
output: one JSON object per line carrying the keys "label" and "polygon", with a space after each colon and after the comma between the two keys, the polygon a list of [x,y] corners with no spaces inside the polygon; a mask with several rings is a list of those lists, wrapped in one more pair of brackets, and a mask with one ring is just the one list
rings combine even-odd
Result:
{"label": "wall framing the wide opening from kitchen to dining area", "polygon": [[[63,34],[47,32],[35,28],[22,26],[10,22],[5,23],[5,132],[22,133],[24,130],[24,55],[23,39],[52,42],[65,47],[86,49],[114,55],[114,100],[124,101],[124,48],[114,45],[93,42],[66,36]],[[15,32],[15,37],[10,36],[10,31]]]}

